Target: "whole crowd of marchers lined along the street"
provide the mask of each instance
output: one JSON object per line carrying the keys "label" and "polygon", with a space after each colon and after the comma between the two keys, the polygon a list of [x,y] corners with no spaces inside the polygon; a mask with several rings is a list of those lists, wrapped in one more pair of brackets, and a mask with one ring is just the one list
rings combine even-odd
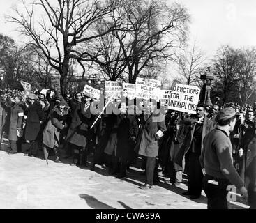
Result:
{"label": "whole crowd of marchers lined along the street", "polygon": [[[86,167],[92,153],[91,170],[96,164],[105,164],[108,174],[117,178],[126,177],[130,165],[140,157],[145,174],[142,190],[158,185],[161,168],[174,186],[186,174],[188,191],[183,195],[198,199],[204,190],[208,208],[227,208],[229,185],[236,187],[250,208],[256,208],[256,118],[252,106],[199,104],[196,114],[186,114],[160,109],[155,100],[136,100],[112,100],[106,109],[112,112],[99,116],[91,112],[99,102],[87,93],[62,96],[59,91],[54,95],[50,91],[46,95],[1,91],[1,141],[5,133],[10,155],[21,153],[22,144],[29,144],[24,155],[38,157],[43,150],[42,160],[47,164],[54,155],[55,162],[70,158],[72,164]],[[65,157],[59,155],[60,146]]]}

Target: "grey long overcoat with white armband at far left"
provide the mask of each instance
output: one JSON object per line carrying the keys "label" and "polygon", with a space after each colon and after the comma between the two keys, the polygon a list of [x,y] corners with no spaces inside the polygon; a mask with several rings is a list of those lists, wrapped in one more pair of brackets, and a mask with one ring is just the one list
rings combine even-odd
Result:
{"label": "grey long overcoat with white armband at far left", "polygon": [[22,105],[22,103],[13,105],[13,107],[10,108],[9,140],[17,141],[17,128],[22,129],[23,118],[24,105]]}

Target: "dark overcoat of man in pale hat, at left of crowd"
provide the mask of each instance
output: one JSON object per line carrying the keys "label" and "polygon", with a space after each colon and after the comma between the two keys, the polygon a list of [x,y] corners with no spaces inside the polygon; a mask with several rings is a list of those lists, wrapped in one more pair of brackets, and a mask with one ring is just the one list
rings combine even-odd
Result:
{"label": "dark overcoat of man in pale hat, at left of crowd", "polygon": [[25,139],[29,141],[36,140],[40,131],[40,122],[43,121],[44,116],[42,105],[38,101],[33,102],[33,105],[29,105],[24,134]]}

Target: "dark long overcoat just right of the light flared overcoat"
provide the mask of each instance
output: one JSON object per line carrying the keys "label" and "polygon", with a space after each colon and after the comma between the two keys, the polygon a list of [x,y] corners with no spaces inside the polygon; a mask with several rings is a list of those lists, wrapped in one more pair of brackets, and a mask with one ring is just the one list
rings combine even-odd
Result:
{"label": "dark long overcoat just right of the light flared overcoat", "polygon": [[81,102],[73,103],[71,107],[71,123],[68,129],[66,140],[70,144],[85,147],[86,139],[91,134],[91,125],[94,116],[91,114],[90,107],[85,111],[85,105]]}

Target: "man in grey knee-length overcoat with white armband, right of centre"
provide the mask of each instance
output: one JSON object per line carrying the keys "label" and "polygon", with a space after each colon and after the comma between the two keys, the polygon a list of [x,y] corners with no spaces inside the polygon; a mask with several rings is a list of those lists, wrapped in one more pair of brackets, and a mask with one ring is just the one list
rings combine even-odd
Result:
{"label": "man in grey knee-length overcoat with white armband, right of centre", "polygon": [[147,101],[146,111],[142,116],[142,131],[135,146],[135,151],[146,157],[146,182],[140,187],[141,189],[149,189],[153,186],[153,175],[159,150],[158,140],[163,137],[166,130],[164,116],[156,112],[156,101]]}

